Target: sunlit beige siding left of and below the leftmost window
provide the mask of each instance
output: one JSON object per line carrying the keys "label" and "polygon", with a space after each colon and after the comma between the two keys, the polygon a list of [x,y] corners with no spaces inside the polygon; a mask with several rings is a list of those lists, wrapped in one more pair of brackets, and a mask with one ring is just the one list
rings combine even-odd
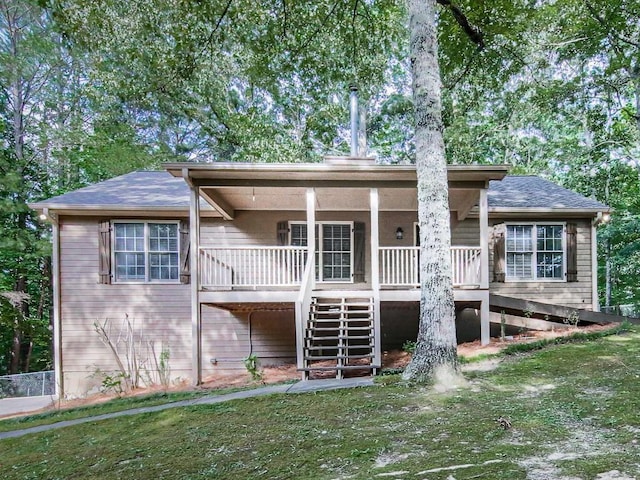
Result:
{"label": "sunlit beige siding left of and below the leftmost window", "polygon": [[[60,225],[61,331],[64,390],[81,396],[100,387],[97,369],[115,368],[114,357],[94,330],[109,320],[114,339],[128,316],[145,345],[170,352],[174,380],[189,379],[191,313],[189,285],[101,285],[98,282],[98,218],[65,218]],[[141,359],[153,363],[142,348]]]}

